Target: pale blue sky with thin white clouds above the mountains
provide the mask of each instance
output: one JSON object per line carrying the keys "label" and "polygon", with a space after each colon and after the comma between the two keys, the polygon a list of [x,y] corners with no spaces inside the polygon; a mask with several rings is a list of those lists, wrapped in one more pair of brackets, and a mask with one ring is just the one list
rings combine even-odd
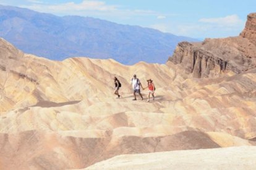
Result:
{"label": "pale blue sky with thin white clouds above the mountains", "polygon": [[54,15],[80,15],[192,38],[237,36],[255,0],[0,0]]}

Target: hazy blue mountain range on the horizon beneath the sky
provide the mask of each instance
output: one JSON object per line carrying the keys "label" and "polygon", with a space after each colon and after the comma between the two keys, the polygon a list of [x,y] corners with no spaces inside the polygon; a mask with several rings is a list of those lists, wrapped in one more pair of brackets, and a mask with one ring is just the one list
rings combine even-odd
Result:
{"label": "hazy blue mountain range on the horizon beneath the sky", "polygon": [[165,63],[180,41],[197,39],[91,17],[43,14],[0,5],[0,37],[53,60],[85,56],[124,64]]}

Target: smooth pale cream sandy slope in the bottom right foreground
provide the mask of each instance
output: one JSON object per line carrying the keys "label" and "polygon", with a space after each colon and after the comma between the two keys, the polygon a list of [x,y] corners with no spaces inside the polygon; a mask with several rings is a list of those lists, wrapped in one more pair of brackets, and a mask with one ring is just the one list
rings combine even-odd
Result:
{"label": "smooth pale cream sandy slope in the bottom right foreground", "polygon": [[120,155],[86,169],[255,169],[256,147]]}

